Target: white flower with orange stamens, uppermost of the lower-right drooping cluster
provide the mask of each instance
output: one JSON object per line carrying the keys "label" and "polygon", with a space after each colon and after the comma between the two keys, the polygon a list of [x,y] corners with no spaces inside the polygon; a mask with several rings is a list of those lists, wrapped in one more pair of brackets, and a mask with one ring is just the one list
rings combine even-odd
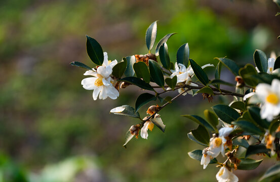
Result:
{"label": "white flower with orange stamens, uppermost of the lower-right drooping cluster", "polygon": [[219,129],[219,136],[210,139],[210,150],[207,152],[211,157],[217,157],[220,152],[225,156],[226,137],[233,131],[232,127],[222,127]]}

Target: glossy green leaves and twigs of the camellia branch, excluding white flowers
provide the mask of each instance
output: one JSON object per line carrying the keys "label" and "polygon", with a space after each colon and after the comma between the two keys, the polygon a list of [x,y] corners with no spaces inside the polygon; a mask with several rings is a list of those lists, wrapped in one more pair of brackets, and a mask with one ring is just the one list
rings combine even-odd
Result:
{"label": "glossy green leaves and twigs of the camellia branch, excluding white flowers", "polygon": [[[274,117],[274,119],[269,122],[261,117],[261,102],[256,97],[247,100],[243,99],[246,94],[253,93],[258,84],[271,84],[274,79],[280,80],[280,57],[275,59],[274,66],[271,68],[274,70],[273,74],[267,73],[269,69],[267,57],[265,53],[260,50],[256,50],[254,53],[254,62],[257,69],[252,64],[239,67],[234,61],[228,58],[216,58],[218,63],[215,67],[215,78],[210,80],[203,68],[189,58],[190,50],[188,43],[181,45],[178,49],[176,56],[177,63],[174,64],[171,61],[168,53],[167,41],[175,33],[167,34],[159,40],[155,46],[154,54],[151,53],[156,39],[156,32],[157,24],[155,21],[146,31],[145,40],[148,54],[124,57],[123,60],[118,62],[112,69],[112,77],[118,83],[125,82],[126,84],[133,84],[143,90],[149,90],[149,93],[143,93],[138,96],[135,107],[124,105],[118,107],[118,111],[113,113],[140,119],[141,123],[139,123],[138,130],[143,127],[146,121],[151,121],[164,132],[165,125],[161,119],[159,120],[154,117],[155,114],[187,91],[191,90],[192,92],[188,93],[192,96],[203,93],[206,98],[212,98],[215,95],[230,95],[233,97],[231,104],[229,106],[218,104],[212,107],[213,111],[205,110],[204,115],[206,119],[196,115],[183,115],[183,117],[187,117],[198,124],[196,129],[188,133],[188,138],[202,146],[209,147],[210,135],[219,135],[219,123],[224,122],[234,128],[228,136],[228,140],[232,142],[232,148],[227,148],[226,152],[233,153],[234,150],[235,157],[238,157],[240,161],[236,164],[237,169],[252,170],[258,167],[262,160],[248,158],[256,154],[263,154],[270,157],[272,153],[276,153],[277,159],[280,159],[279,116]],[[87,52],[96,68],[102,65],[104,56],[101,45],[90,36],[87,36]],[[195,83],[195,86],[186,82],[180,82],[178,84],[177,76],[171,77],[175,67],[179,64],[193,71],[194,75],[189,75],[189,77],[191,77],[191,81]],[[93,70],[91,67],[79,62],[72,62],[71,65]],[[235,83],[229,83],[221,79],[222,66],[229,69],[232,74],[236,76]],[[221,89],[221,85],[233,86],[235,92]],[[173,92],[174,90],[182,88],[184,91],[174,98],[161,97],[163,93]],[[117,89],[119,88],[117,87]],[[159,89],[161,92],[158,91]],[[151,94],[152,92],[153,94]],[[149,117],[142,119],[138,112],[139,109],[157,99],[164,104],[162,106],[157,106],[156,111],[150,114]],[[131,130],[127,132],[126,142],[124,144],[125,147],[134,135],[135,133]],[[264,139],[270,135],[273,136],[272,142],[275,144],[275,148],[273,149],[269,147],[266,142],[261,142],[265,141]],[[243,150],[238,150],[241,147]],[[188,154],[191,158],[201,161],[203,151],[194,150]],[[216,158],[213,158],[210,164],[223,164],[232,167],[233,163],[229,162],[228,159],[225,163],[219,163]],[[269,168],[261,179],[278,179],[279,176],[277,174],[279,170],[280,164],[277,163]]]}

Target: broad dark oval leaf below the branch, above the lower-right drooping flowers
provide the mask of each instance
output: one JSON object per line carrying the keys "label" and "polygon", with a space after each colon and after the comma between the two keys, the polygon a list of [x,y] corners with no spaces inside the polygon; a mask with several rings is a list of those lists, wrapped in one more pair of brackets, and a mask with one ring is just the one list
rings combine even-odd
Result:
{"label": "broad dark oval leaf below the branch, above the lower-right drooping flowers", "polygon": [[231,124],[231,121],[235,121],[238,117],[240,117],[239,113],[235,109],[227,105],[218,104],[212,108],[221,120],[229,124]]}

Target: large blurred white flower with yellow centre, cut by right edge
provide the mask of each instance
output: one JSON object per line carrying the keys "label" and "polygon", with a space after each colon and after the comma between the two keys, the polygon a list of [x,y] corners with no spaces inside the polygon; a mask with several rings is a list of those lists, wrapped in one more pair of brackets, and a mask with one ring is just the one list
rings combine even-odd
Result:
{"label": "large blurred white flower with yellow centre, cut by right edge", "polygon": [[259,83],[256,95],[261,100],[261,118],[271,121],[280,113],[280,80],[273,79],[271,85]]}

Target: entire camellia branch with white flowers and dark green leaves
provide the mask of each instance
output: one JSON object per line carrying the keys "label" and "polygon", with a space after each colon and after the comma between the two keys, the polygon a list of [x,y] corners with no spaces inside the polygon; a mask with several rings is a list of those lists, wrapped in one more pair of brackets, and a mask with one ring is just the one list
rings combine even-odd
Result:
{"label": "entire camellia branch with white flowers and dark green leaves", "polygon": [[[274,0],[275,1],[275,0]],[[275,1],[278,5],[279,1]],[[87,53],[94,66],[72,62],[73,66],[85,68],[82,80],[85,89],[93,90],[93,99],[117,99],[119,90],[129,85],[142,89],[135,106],[119,106],[111,109],[116,115],[130,116],[139,123],[132,125],[126,133],[128,142],[135,136],[148,139],[148,132],[154,125],[165,132],[164,118],[158,114],[174,100],[185,95],[195,96],[202,93],[205,99],[213,96],[232,96],[230,105],[218,104],[204,111],[206,119],[197,115],[183,115],[196,123],[198,127],[187,133],[188,138],[204,146],[203,150],[188,152],[189,157],[201,162],[206,169],[209,164],[218,167],[218,181],[238,181],[234,170],[252,170],[263,159],[255,160],[254,155],[274,157],[280,160],[280,56],[272,54],[270,58],[261,50],[253,54],[255,65],[239,67],[228,58],[216,58],[217,65],[199,66],[192,60],[189,44],[178,48],[176,58],[170,58],[167,41],[175,33],[164,36],[155,45],[157,22],[153,22],[146,31],[146,55],[124,57],[122,61],[111,61],[101,45],[94,38],[87,36]],[[155,52],[151,53],[155,45]],[[173,64],[171,60],[175,60]],[[214,67],[215,79],[210,80],[205,67]],[[226,67],[235,76],[232,83],[221,79],[221,68]],[[235,92],[221,88],[229,85]],[[146,92],[149,90],[149,92]],[[162,98],[163,93],[178,93],[175,97]],[[153,93],[153,94],[150,94]],[[162,104],[149,106],[150,101],[159,100]],[[138,110],[147,108],[146,117],[141,117]],[[219,123],[222,127],[218,128]],[[148,131],[150,130],[150,131]],[[242,148],[242,150],[241,150]],[[245,151],[242,153],[241,151]],[[221,154],[224,160],[216,157]],[[260,180],[280,181],[280,163],[267,169]],[[214,175],[213,175],[214,177]]]}

